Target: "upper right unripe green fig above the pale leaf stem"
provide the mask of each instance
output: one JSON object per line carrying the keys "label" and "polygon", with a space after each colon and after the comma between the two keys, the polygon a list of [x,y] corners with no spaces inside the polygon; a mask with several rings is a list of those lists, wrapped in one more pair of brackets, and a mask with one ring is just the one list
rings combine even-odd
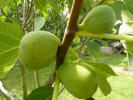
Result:
{"label": "upper right unripe green fig above the pale leaf stem", "polygon": [[79,25],[79,30],[92,33],[106,33],[112,30],[116,15],[114,10],[107,5],[93,8]]}

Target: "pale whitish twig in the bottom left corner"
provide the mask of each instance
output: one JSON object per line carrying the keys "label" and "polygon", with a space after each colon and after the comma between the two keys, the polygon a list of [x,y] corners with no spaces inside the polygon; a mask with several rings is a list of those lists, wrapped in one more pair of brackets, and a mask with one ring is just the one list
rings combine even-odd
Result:
{"label": "pale whitish twig in the bottom left corner", "polygon": [[0,80],[0,91],[4,94],[7,100],[15,100],[15,98],[4,88],[1,80]]}

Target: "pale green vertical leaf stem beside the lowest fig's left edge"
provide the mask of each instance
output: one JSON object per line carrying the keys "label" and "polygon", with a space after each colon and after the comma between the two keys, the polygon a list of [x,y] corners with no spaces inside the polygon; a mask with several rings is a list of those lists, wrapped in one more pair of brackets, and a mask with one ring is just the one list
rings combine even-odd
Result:
{"label": "pale green vertical leaf stem beside the lowest fig's left edge", "polygon": [[55,84],[54,84],[54,93],[53,93],[52,100],[57,100],[58,92],[59,92],[59,85],[60,85],[60,80],[57,76],[57,71],[56,71],[56,78],[55,78]]}

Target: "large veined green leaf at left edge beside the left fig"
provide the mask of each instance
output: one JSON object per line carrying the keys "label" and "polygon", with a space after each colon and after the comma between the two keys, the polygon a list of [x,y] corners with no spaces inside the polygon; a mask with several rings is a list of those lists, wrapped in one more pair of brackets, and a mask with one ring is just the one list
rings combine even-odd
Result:
{"label": "large veined green leaf at left edge beside the left fig", "polygon": [[0,79],[5,77],[16,62],[22,36],[23,32],[18,25],[0,23]]}

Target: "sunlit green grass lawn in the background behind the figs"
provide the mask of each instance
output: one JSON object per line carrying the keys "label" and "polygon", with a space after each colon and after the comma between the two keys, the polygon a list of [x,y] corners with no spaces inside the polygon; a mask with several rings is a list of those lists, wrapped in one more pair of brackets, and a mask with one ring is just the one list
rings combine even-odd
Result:
{"label": "sunlit green grass lawn in the background behind the figs", "polygon": [[[102,57],[97,57],[98,62],[103,62],[111,54],[103,55]],[[113,58],[109,65],[112,67],[116,66],[127,66],[126,57],[124,55],[118,55]],[[45,81],[48,79],[50,73],[54,70],[54,64],[51,64],[49,67],[46,67],[39,71],[40,84],[44,85]],[[118,73],[117,77],[110,77],[108,81],[111,83],[112,92],[108,96],[104,96],[100,89],[97,90],[94,98],[96,100],[133,100],[133,77]],[[27,87],[28,93],[36,88],[34,80],[34,72],[26,70],[27,76]],[[6,89],[9,90],[17,100],[22,100],[22,88],[21,88],[21,72],[19,67],[13,67],[6,77],[3,79],[3,84]],[[6,100],[3,96],[0,95],[0,100]],[[64,90],[59,96],[59,100],[80,100],[73,97],[68,91]]]}

